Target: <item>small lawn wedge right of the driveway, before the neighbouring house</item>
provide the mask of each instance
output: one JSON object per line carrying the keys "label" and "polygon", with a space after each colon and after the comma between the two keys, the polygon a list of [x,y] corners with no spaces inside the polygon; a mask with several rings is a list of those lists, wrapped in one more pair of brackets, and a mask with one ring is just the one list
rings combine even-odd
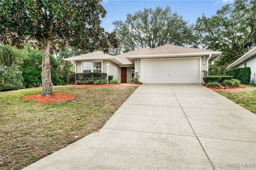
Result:
{"label": "small lawn wedge right of the driveway, before the neighbouring house", "polygon": [[256,114],[256,85],[243,86],[246,88],[216,90],[216,92]]}

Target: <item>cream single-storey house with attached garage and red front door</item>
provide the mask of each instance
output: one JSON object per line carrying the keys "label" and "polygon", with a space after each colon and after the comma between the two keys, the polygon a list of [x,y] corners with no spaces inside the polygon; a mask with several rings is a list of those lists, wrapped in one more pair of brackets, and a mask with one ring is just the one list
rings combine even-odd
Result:
{"label": "cream single-storey house with attached garage and red front door", "polygon": [[142,48],[116,56],[100,51],[66,58],[75,65],[76,73],[107,72],[128,83],[138,72],[142,83],[203,83],[202,71],[208,71],[208,60],[221,54],[219,51],[162,45]]}

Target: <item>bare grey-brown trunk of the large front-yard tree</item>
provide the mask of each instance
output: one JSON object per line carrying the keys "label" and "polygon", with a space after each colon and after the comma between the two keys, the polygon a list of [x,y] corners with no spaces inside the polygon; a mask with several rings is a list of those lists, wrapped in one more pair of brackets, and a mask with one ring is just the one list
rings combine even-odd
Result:
{"label": "bare grey-brown trunk of the large front-yard tree", "polygon": [[43,91],[41,95],[50,97],[53,95],[52,91],[52,79],[51,79],[51,65],[50,65],[50,40],[45,41],[42,44],[42,55],[43,55],[43,61],[42,61],[42,87]]}

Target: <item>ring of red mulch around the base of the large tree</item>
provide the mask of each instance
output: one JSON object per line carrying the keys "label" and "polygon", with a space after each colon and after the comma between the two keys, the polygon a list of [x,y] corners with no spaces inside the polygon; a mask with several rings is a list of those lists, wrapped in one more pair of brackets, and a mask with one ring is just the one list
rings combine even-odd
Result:
{"label": "ring of red mulch around the base of the large tree", "polygon": [[42,96],[42,95],[26,95],[24,97],[21,97],[21,100],[35,100],[41,103],[54,103],[55,101],[60,100],[66,100],[66,99],[72,99],[74,96],[65,94],[65,93],[54,93],[54,95],[50,97]]}

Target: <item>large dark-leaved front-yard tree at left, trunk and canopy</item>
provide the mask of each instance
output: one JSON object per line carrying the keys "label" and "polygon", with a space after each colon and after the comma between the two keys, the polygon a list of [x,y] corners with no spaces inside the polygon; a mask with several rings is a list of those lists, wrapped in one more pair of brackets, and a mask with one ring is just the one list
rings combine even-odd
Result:
{"label": "large dark-leaved front-yard tree at left, trunk and canopy", "polygon": [[106,10],[100,0],[1,0],[0,41],[23,48],[34,43],[42,50],[42,95],[51,96],[50,49],[68,44],[80,49],[107,52],[117,47],[114,33],[100,27]]}

